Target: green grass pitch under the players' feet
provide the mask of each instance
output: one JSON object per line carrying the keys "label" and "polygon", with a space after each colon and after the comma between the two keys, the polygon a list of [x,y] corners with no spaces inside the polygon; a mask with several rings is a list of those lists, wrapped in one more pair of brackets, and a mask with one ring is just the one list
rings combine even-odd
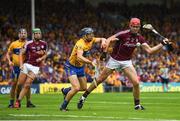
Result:
{"label": "green grass pitch under the players' feet", "polygon": [[91,94],[82,110],[76,107],[80,94],[70,102],[69,112],[59,111],[62,95],[32,95],[36,108],[8,109],[8,95],[0,95],[0,120],[180,120],[179,93],[142,93],[146,108],[135,111],[132,93]]}

